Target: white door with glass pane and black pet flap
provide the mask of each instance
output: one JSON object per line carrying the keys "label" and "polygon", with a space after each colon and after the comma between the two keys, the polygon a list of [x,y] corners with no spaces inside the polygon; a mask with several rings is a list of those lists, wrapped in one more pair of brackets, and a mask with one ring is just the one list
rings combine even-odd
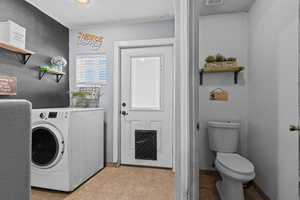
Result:
{"label": "white door with glass pane and black pet flap", "polygon": [[172,168],[173,47],[121,50],[121,164]]}

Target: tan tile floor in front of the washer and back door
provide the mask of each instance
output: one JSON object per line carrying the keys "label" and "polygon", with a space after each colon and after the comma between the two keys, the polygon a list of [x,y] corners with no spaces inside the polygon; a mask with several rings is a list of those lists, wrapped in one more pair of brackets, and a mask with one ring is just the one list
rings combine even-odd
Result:
{"label": "tan tile floor in front of the washer and back door", "polygon": [[171,170],[144,167],[106,167],[73,193],[34,188],[32,200],[173,200]]}

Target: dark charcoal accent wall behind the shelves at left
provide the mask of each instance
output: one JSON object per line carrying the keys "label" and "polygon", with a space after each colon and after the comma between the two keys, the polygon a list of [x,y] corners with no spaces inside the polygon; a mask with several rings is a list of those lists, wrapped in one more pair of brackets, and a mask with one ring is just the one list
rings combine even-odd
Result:
{"label": "dark charcoal accent wall behind the shelves at left", "polygon": [[0,0],[0,21],[7,20],[26,28],[26,49],[36,54],[23,65],[14,53],[0,48],[0,75],[18,79],[17,96],[0,96],[0,99],[27,99],[33,108],[68,106],[68,67],[67,75],[56,83],[56,77],[50,74],[39,80],[37,66],[50,65],[52,56],[69,59],[69,29],[24,0]]}

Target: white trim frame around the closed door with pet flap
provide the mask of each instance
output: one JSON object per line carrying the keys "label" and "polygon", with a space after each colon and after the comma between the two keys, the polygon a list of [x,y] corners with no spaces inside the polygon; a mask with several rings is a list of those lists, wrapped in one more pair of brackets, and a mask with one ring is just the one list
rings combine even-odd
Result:
{"label": "white trim frame around the closed door with pet flap", "polygon": [[[175,39],[151,39],[151,40],[131,40],[114,42],[114,66],[113,66],[113,163],[121,164],[121,50],[128,48],[145,48],[145,47],[173,47],[173,117],[172,133],[174,133],[175,119]],[[175,170],[175,135],[172,137],[172,162]]]}

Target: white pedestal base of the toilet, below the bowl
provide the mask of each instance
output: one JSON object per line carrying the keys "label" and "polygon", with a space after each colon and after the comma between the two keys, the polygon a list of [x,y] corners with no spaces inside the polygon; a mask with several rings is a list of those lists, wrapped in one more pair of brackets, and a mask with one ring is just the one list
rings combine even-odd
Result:
{"label": "white pedestal base of the toilet, below the bowl", "polygon": [[241,181],[224,176],[222,179],[216,183],[221,200],[245,200]]}

